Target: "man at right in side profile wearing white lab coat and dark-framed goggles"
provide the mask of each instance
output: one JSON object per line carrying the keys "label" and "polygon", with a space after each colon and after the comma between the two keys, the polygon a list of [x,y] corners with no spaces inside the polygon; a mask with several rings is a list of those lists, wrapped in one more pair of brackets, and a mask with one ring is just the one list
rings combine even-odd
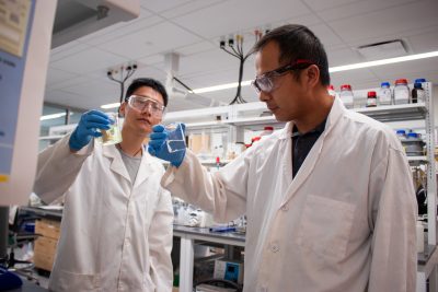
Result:
{"label": "man at right in side profile wearing white lab coat and dark-framed goggles", "polygon": [[393,130],[328,95],[307,27],[278,27],[254,50],[254,86],[286,127],[209,174],[189,150],[168,153],[155,126],[149,151],[173,165],[162,185],[215,220],[246,214],[246,292],[414,291],[415,192]]}

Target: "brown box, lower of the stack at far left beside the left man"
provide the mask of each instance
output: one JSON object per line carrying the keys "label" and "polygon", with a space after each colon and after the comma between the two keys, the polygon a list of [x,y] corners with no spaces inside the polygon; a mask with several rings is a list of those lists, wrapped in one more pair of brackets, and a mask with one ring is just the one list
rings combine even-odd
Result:
{"label": "brown box, lower of the stack at far left beside the left man", "polygon": [[58,240],[39,236],[35,240],[34,264],[36,268],[51,271]]}

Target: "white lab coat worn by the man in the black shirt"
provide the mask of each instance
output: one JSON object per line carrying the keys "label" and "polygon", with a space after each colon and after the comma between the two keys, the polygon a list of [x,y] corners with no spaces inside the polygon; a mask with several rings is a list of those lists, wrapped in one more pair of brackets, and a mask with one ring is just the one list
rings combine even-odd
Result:
{"label": "white lab coat worn by the man in the black shirt", "polygon": [[292,126],[212,175],[187,151],[162,185],[216,221],[246,213],[246,292],[414,291],[416,199],[393,130],[336,98],[292,180]]}

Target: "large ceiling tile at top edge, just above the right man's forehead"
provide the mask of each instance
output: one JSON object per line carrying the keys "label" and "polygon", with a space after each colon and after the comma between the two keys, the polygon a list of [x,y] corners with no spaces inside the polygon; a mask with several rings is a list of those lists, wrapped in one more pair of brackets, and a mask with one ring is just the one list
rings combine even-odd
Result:
{"label": "large ceiling tile at top edge, just above the right man's forehead", "polygon": [[175,17],[173,21],[205,38],[214,38],[310,12],[299,0],[279,2],[280,4],[276,4],[276,1],[270,1],[267,4],[264,0],[229,0]]}

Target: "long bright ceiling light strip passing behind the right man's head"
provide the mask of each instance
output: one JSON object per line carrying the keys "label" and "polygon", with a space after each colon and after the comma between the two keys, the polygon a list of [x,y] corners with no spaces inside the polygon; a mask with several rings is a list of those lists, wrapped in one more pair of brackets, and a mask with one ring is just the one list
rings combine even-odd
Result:
{"label": "long bright ceiling light strip passing behind the right man's head", "polygon": [[[377,67],[377,66],[389,65],[389,63],[419,60],[419,59],[426,59],[426,58],[433,58],[433,57],[438,57],[438,50],[424,52],[424,54],[410,55],[410,56],[404,56],[404,57],[382,59],[382,60],[377,60],[377,61],[358,62],[358,63],[351,63],[351,65],[345,65],[345,66],[337,66],[337,67],[328,68],[328,72],[335,73],[335,72],[341,72],[341,71],[348,71],[348,70]],[[251,82],[252,82],[252,80],[242,81],[242,86],[247,86],[251,84]],[[193,90],[193,93],[206,93],[206,92],[221,91],[221,90],[228,90],[228,89],[235,89],[235,87],[238,87],[238,84],[239,84],[238,82],[233,82],[233,83],[227,83],[227,84],[222,84],[222,85],[196,89],[196,90]]]}

